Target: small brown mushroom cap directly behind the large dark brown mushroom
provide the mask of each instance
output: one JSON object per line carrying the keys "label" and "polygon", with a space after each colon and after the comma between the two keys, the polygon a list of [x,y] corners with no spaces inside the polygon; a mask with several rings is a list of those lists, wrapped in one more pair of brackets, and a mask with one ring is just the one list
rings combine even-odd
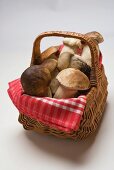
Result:
{"label": "small brown mushroom cap directly behind the large dark brown mushroom", "polygon": [[47,68],[50,72],[52,72],[53,70],[55,70],[57,66],[57,60],[55,59],[44,60],[41,66]]}

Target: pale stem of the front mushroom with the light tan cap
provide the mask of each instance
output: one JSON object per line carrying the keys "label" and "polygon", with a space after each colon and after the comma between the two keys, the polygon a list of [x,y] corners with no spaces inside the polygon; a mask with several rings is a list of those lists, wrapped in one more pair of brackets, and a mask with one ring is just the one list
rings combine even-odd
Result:
{"label": "pale stem of the front mushroom with the light tan cap", "polygon": [[76,94],[77,90],[67,89],[64,86],[60,85],[54,95],[54,98],[57,99],[65,99],[65,98],[72,98]]}

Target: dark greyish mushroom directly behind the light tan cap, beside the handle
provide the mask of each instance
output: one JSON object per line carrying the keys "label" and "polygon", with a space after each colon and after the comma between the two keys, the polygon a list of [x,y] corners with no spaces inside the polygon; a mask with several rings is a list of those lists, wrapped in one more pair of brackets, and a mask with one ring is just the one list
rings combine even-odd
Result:
{"label": "dark greyish mushroom directly behind the light tan cap, beside the handle", "polygon": [[74,55],[74,56],[71,57],[71,61],[70,61],[69,67],[70,68],[79,69],[88,78],[90,77],[91,67],[89,65],[87,65],[85,62],[83,62],[81,60],[81,57],[78,56],[78,55]]}

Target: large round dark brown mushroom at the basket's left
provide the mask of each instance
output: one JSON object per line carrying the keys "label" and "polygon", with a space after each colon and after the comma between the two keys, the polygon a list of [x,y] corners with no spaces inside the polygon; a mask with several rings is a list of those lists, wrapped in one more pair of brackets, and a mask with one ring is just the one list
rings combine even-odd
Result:
{"label": "large round dark brown mushroom at the basket's left", "polygon": [[21,75],[21,84],[24,92],[32,96],[47,96],[50,82],[50,71],[41,65],[33,65],[27,68]]}

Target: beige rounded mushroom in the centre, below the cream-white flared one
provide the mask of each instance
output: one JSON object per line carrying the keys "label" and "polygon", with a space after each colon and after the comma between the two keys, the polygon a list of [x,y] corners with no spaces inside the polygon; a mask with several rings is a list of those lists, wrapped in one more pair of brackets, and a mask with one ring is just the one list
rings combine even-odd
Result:
{"label": "beige rounded mushroom in the centre, below the cream-white flared one", "polygon": [[70,58],[72,54],[69,52],[64,52],[59,55],[57,68],[61,71],[69,66]]}

